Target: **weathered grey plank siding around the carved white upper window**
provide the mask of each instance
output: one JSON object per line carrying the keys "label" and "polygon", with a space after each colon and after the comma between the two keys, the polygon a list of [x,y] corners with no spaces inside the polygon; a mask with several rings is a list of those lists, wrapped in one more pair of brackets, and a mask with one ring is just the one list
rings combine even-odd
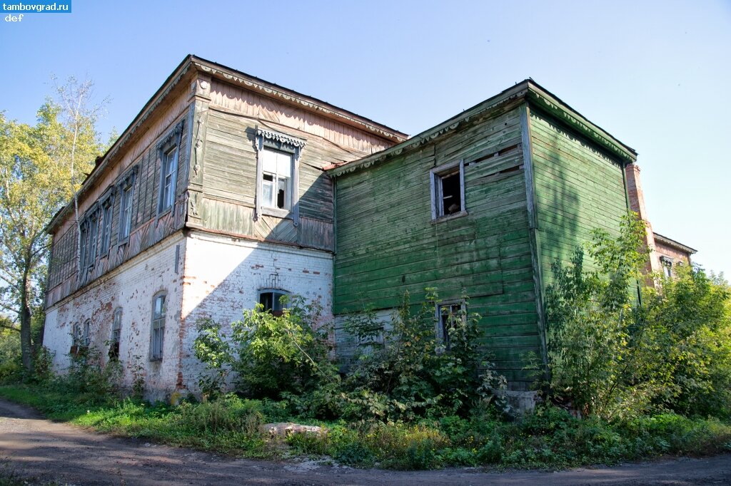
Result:
{"label": "weathered grey plank siding around the carved white upper window", "polygon": [[205,228],[268,242],[334,250],[333,183],[322,168],[360,154],[354,155],[319,136],[265,123],[267,129],[306,140],[298,163],[300,220],[298,226],[292,217],[262,215],[254,220],[255,133],[262,120],[210,107],[206,125],[199,207]]}

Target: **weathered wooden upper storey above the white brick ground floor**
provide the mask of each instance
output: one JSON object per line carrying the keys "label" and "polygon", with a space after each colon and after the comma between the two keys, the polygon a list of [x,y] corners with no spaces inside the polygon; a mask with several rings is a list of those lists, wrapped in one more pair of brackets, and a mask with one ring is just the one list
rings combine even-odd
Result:
{"label": "weathered wooden upper storey above the white brick ground floor", "polygon": [[[188,56],[83,183],[81,242],[72,203],[48,225],[46,305],[184,227],[332,250],[332,185],[322,167],[405,138],[323,101]],[[260,171],[262,153],[294,155],[292,143],[298,154],[289,173],[289,208],[257,208],[262,180],[269,182]]]}

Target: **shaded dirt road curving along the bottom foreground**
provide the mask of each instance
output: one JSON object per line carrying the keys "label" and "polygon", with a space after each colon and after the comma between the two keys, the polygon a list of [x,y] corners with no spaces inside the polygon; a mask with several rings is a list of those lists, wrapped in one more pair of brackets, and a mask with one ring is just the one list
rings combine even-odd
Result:
{"label": "shaded dirt road curving along the bottom foreground", "polygon": [[0,459],[16,474],[72,485],[731,485],[731,455],[556,473],[380,471],[221,457],[91,433],[0,400]]}

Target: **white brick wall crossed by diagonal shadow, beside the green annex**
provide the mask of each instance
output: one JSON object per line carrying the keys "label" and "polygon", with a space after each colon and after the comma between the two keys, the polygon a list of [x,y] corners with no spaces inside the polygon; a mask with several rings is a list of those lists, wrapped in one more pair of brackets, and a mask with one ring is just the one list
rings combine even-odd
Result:
{"label": "white brick wall crossed by diagonal shadow, beside the green annex", "polygon": [[324,320],[332,313],[333,255],[286,245],[252,242],[193,231],[186,243],[181,328],[183,386],[197,390],[202,364],[192,344],[197,321],[211,317],[224,325],[258,302],[258,290],[277,288],[319,301]]}

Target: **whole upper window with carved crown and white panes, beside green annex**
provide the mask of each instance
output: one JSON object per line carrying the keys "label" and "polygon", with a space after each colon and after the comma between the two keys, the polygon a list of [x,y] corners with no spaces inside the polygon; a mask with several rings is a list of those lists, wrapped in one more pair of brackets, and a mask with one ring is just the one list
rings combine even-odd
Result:
{"label": "whole upper window with carved crown and white panes, beside green annex", "polygon": [[292,217],[299,223],[298,161],[305,142],[257,128],[257,197],[254,217]]}

